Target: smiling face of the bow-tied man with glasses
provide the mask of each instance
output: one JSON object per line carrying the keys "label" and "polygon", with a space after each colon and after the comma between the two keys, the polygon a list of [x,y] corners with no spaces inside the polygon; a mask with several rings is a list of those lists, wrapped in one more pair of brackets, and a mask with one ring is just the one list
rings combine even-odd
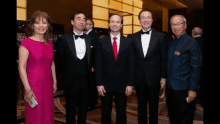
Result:
{"label": "smiling face of the bow-tied man with glasses", "polygon": [[140,14],[139,22],[144,30],[147,30],[151,27],[153,23],[152,14],[149,11],[143,11]]}

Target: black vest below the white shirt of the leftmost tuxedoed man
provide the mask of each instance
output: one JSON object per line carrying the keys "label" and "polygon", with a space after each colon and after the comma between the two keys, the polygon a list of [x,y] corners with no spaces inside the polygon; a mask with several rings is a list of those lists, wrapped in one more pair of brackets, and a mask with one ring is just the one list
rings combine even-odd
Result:
{"label": "black vest below the white shirt of the leftmost tuxedoed man", "polygon": [[77,69],[76,69],[76,75],[87,75],[88,73],[88,65],[87,65],[87,52],[83,59],[79,59],[77,57]]}

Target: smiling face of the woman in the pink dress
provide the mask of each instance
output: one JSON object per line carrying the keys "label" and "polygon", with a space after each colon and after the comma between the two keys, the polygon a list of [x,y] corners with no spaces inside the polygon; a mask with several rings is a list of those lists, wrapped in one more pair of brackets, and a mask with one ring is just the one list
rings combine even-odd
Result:
{"label": "smiling face of the woman in the pink dress", "polygon": [[44,35],[48,30],[48,22],[44,17],[38,17],[33,24],[34,34]]}

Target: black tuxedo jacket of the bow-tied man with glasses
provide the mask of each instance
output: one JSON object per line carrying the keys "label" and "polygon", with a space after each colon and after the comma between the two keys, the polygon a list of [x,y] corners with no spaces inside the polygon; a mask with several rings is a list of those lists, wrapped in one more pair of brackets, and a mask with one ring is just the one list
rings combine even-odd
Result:
{"label": "black tuxedo jacket of the bow-tied man with glasses", "polygon": [[138,85],[145,80],[149,86],[160,86],[161,78],[166,78],[166,43],[164,34],[152,30],[145,58],[141,43],[141,30],[132,34],[130,38],[134,42],[135,83]]}

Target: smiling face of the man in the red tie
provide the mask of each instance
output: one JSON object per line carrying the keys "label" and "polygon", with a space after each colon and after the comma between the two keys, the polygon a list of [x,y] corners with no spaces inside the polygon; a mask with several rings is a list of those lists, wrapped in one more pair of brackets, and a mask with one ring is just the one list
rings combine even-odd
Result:
{"label": "smiling face of the man in the red tie", "polygon": [[111,18],[109,19],[109,28],[110,28],[111,32],[115,32],[115,33],[120,32],[120,30],[122,28],[121,21],[122,21],[122,19],[119,15],[111,16]]}

